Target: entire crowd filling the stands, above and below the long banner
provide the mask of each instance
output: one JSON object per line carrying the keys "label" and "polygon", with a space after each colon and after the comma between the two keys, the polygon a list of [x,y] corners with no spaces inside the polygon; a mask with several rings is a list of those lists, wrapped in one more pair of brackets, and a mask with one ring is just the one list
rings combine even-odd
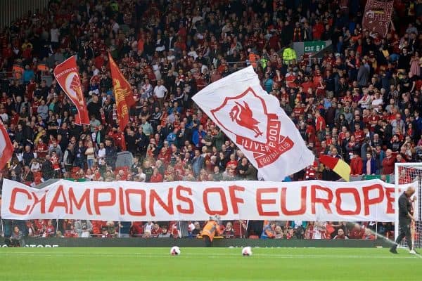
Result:
{"label": "entire crowd filling the stands, above and below the long banner", "polygon": [[[255,66],[262,87],[298,126],[316,155],[285,181],[338,180],[317,161],[341,157],[352,175],[386,176],[395,162],[422,159],[422,1],[395,1],[386,37],[362,29],[359,0],[51,1],[0,34],[0,118],[13,142],[1,171],[27,185],[78,181],[256,180],[243,152],[193,103],[207,84]],[[290,43],[331,40],[321,58]],[[107,51],[132,85],[136,104],[117,122]],[[52,69],[77,55],[90,125]],[[118,155],[131,152],[133,163]],[[391,223],[226,222],[224,235],[364,238]],[[27,221],[29,235],[194,236],[199,222]],[[4,220],[11,232],[13,222]],[[5,231],[6,233],[6,231]]]}

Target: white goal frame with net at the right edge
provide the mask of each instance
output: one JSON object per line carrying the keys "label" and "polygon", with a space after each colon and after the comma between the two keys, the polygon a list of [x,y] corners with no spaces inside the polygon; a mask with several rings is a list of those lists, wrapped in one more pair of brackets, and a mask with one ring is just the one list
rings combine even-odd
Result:
{"label": "white goal frame with net at the right edge", "polygon": [[[404,190],[399,190],[399,185],[414,183],[415,188],[417,188],[416,196],[417,200],[414,202],[414,216],[416,221],[411,224],[411,235],[412,240],[414,241],[415,248],[422,247],[422,163],[396,163],[395,164],[395,230],[394,236],[397,239],[399,235],[399,213],[398,213],[398,197],[404,192]],[[413,196],[412,196],[413,198]],[[400,243],[399,247],[407,247],[406,240],[403,240]]]}

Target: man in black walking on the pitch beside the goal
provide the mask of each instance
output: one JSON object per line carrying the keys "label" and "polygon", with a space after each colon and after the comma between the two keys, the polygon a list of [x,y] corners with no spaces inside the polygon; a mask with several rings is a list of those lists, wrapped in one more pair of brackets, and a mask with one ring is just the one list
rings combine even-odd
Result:
{"label": "man in black walking on the pitch beside the goal", "polygon": [[407,190],[399,197],[399,236],[397,237],[395,244],[390,249],[392,254],[398,254],[397,245],[402,242],[404,237],[406,237],[406,242],[410,249],[409,253],[416,254],[416,251],[413,249],[413,245],[411,244],[410,232],[411,221],[415,220],[411,203],[414,202],[416,198],[414,197],[413,200],[410,199],[411,195],[414,195],[414,192],[415,189],[409,186],[409,188],[407,188]]}

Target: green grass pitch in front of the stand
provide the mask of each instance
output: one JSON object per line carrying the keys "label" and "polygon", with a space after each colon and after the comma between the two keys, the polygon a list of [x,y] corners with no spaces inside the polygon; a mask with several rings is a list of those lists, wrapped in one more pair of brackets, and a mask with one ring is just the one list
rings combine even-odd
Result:
{"label": "green grass pitch in front of the stand", "polygon": [[0,248],[0,280],[422,280],[422,256],[352,248]]}

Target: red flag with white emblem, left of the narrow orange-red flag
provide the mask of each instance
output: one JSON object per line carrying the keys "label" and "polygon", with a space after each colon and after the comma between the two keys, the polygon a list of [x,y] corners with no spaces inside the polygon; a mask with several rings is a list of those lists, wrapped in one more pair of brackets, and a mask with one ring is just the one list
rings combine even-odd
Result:
{"label": "red flag with white emblem, left of the narrow orange-red flag", "polygon": [[87,110],[87,102],[81,88],[81,79],[79,78],[79,70],[76,65],[75,55],[65,60],[54,69],[54,77],[56,77],[61,89],[77,108],[75,115],[75,123],[89,125],[89,116]]}

